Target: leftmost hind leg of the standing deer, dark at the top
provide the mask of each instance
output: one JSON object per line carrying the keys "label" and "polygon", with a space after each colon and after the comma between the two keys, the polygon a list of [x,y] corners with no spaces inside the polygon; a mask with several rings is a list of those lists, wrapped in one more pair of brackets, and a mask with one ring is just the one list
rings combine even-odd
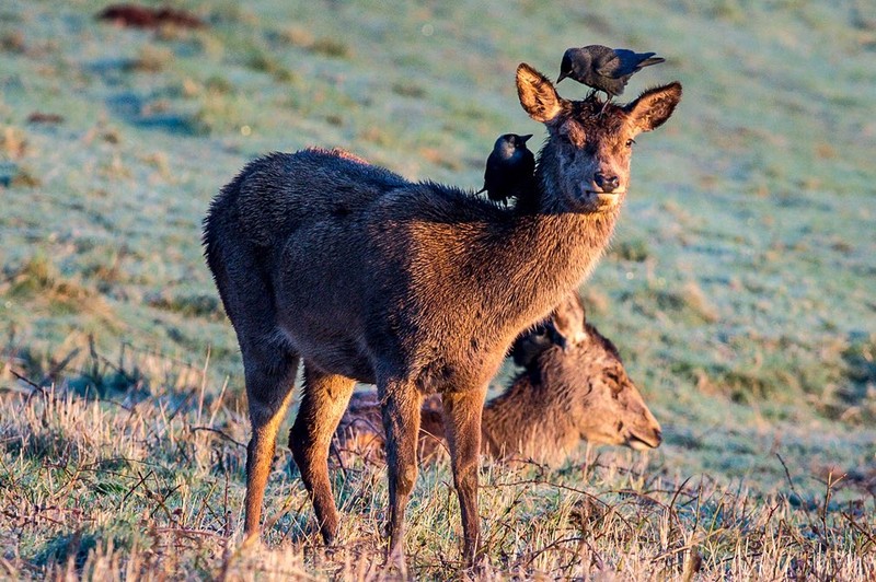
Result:
{"label": "leftmost hind leg of the standing deer, dark at the top", "polygon": [[[245,538],[258,538],[258,522],[267,477],[277,443],[277,431],[291,399],[298,357],[276,350],[242,350],[246,396],[253,435],[246,447]],[[262,352],[262,353],[257,353]]]}

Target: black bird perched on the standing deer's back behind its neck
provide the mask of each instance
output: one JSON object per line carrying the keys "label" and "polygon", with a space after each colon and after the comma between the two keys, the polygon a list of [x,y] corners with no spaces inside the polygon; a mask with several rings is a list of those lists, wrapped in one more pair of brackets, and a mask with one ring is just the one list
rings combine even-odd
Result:
{"label": "black bird perched on the standing deer's back behind its neck", "polygon": [[518,200],[534,197],[535,156],[527,148],[531,137],[531,133],[499,136],[486,159],[484,187],[477,194],[486,190],[491,200],[502,201],[511,197]]}

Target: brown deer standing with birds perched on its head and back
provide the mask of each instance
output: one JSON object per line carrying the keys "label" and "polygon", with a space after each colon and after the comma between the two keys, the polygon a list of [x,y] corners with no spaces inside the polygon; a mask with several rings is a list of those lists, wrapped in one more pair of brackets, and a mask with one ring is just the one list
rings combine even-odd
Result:
{"label": "brown deer standing with birds perched on its head and back", "polygon": [[666,121],[671,83],[625,106],[567,101],[517,68],[529,116],[548,128],[539,210],[411,183],[338,151],[274,153],[214,199],[204,242],[240,344],[252,439],[245,536],[257,538],[277,431],[299,359],[303,397],[292,456],[323,538],[338,527],[328,481],[332,434],[356,381],[377,384],[389,476],[388,561],[404,568],[404,512],[417,477],[419,409],[440,393],[459,498],[463,556],[480,557],[477,470],[486,387],[511,341],[589,275],[614,230],[633,138]]}

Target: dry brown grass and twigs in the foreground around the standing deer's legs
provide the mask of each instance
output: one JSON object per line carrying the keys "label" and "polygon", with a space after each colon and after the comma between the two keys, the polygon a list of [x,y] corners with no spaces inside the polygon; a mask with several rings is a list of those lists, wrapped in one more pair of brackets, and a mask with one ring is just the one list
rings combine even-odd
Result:
{"label": "dry brown grass and twigs in the foreground around the standing deer's legs", "polygon": [[[240,407],[186,383],[106,401],[70,388],[22,388],[0,403],[2,542],[18,548],[3,557],[8,575],[381,577],[382,470],[357,462],[338,472],[342,544],[324,548],[280,451],[267,545],[246,549],[234,477],[245,463]],[[832,469],[812,498],[793,484],[760,498],[706,476],[678,482],[667,469],[622,452],[590,452],[585,466],[556,473],[487,464],[484,578],[689,579],[695,569],[706,579],[863,580],[876,568],[868,509],[835,507],[832,496],[845,484]],[[459,567],[446,531],[458,511],[442,482],[447,470],[424,469],[412,508],[407,551],[427,579]]]}

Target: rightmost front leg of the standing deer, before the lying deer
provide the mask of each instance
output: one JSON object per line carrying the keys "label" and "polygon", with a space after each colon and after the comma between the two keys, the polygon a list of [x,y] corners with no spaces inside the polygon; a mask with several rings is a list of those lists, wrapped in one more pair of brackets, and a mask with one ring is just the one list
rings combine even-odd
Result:
{"label": "rightmost front leg of the standing deer, before the lying deer", "polygon": [[450,447],[453,486],[462,514],[462,555],[474,566],[481,552],[481,520],[477,513],[477,470],[481,455],[481,412],[486,385],[465,392],[441,395],[445,407],[445,432]]}

